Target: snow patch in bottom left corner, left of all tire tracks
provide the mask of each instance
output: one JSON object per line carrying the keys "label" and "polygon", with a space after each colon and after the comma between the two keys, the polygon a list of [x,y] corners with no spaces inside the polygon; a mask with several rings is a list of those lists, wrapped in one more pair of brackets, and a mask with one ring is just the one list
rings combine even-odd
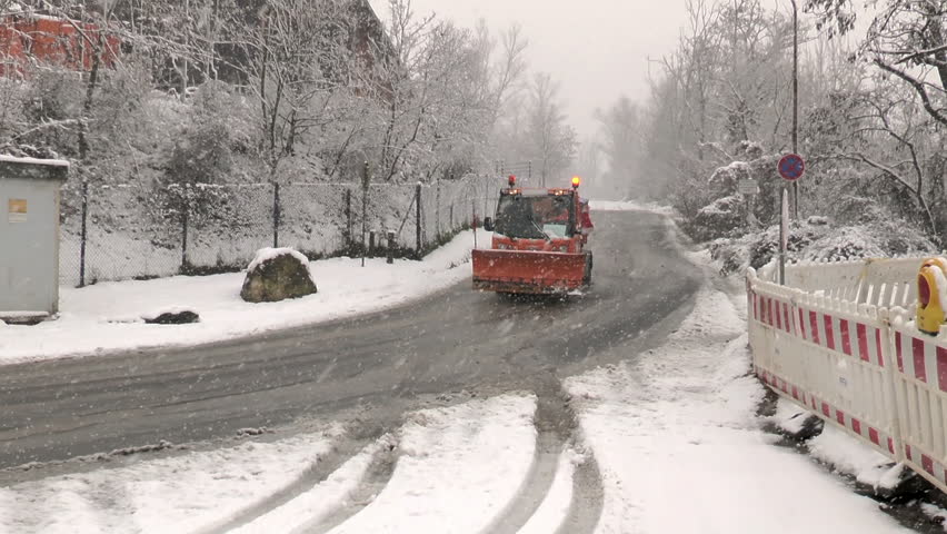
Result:
{"label": "snow patch in bottom left corner, left of all tire tracks", "polygon": [[43,534],[196,532],[293,482],[340,431],[248,442],[0,488],[0,532]]}

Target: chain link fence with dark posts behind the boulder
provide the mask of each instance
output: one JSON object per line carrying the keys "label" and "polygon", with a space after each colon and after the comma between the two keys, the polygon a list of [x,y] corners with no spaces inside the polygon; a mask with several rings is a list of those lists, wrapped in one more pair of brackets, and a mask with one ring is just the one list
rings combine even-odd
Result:
{"label": "chain link fence with dark posts behind the boulder", "polygon": [[[491,214],[504,180],[432,184],[69,184],[62,189],[60,284],[147,279],[245,268],[263,247],[312,259],[422,257]],[[365,231],[363,231],[365,230]],[[375,234],[375,243],[370,236]],[[373,245],[373,246],[372,246]]]}

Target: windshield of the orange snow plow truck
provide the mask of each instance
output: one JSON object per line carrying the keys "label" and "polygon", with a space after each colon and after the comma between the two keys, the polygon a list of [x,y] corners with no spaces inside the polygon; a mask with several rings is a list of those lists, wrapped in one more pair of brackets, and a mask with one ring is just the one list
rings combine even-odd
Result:
{"label": "windshield of the orange snow plow truck", "polygon": [[502,195],[497,206],[497,234],[516,239],[570,237],[572,197]]}

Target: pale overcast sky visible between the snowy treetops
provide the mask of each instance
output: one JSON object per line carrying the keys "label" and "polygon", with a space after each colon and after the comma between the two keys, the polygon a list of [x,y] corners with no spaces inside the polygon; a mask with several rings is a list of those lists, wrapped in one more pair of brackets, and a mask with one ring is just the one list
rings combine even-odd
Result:
{"label": "pale overcast sky visible between the snowy treetops", "polygon": [[[383,19],[387,0],[370,0]],[[625,93],[648,95],[648,58],[674,50],[685,23],[684,0],[413,0],[460,26],[484,18],[497,30],[522,24],[534,70],[562,85],[570,122],[582,139],[597,129],[592,112]],[[654,70],[656,67],[651,66]]]}

